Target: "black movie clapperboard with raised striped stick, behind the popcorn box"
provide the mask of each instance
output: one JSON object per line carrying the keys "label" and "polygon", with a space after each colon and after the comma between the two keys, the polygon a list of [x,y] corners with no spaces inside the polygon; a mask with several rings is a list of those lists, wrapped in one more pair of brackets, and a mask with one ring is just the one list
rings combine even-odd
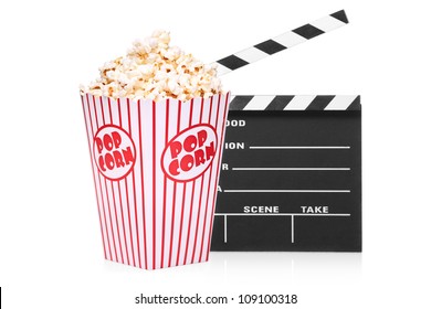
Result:
{"label": "black movie clapperboard with raised striped stick, behind the popcorn box", "polygon": [[[344,11],[218,61],[225,74],[348,23]],[[361,251],[359,96],[236,95],[212,251]]]}

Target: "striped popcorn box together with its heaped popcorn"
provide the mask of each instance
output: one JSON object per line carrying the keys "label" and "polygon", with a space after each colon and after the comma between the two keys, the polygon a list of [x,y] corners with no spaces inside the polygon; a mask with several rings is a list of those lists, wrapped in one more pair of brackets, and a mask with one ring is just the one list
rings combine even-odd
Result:
{"label": "striped popcorn box together with its heaped popcorn", "polygon": [[156,269],[209,257],[229,93],[156,31],[81,87],[105,258]]}

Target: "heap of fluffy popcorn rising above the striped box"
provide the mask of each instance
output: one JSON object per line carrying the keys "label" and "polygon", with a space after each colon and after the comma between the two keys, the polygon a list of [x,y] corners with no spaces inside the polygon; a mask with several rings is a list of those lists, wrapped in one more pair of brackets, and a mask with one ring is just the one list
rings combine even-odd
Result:
{"label": "heap of fluffy popcorn rising above the striped box", "polygon": [[80,85],[81,93],[135,100],[189,100],[223,93],[217,65],[204,65],[169,43],[169,32],[161,30],[136,40],[125,56],[99,67],[98,79]]}

